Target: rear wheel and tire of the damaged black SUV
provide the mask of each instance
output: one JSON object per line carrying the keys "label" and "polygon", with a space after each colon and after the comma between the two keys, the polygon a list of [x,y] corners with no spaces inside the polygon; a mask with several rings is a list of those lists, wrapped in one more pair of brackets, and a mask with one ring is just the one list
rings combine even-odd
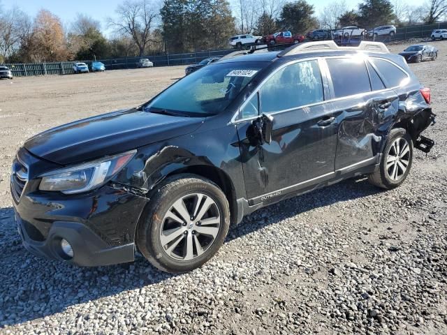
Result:
{"label": "rear wheel and tire of the damaged black SUV", "polygon": [[400,186],[406,179],[413,163],[413,141],[403,128],[390,131],[379,170],[368,175],[368,181],[388,190]]}

